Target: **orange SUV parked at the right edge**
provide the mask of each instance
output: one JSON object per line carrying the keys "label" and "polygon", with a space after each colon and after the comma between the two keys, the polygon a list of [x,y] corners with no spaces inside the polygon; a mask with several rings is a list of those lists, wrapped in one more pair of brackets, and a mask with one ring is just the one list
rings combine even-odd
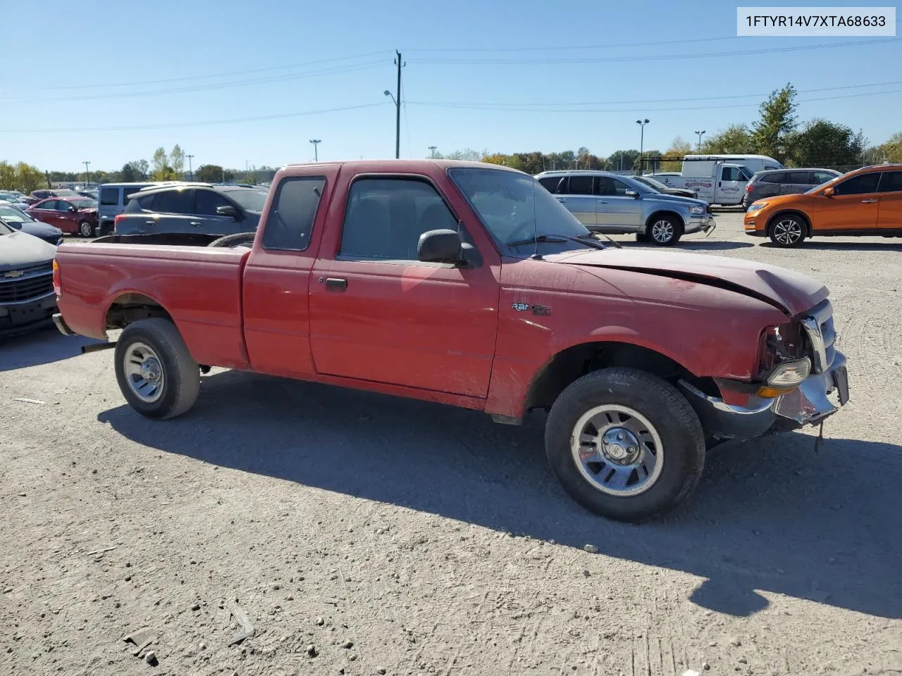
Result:
{"label": "orange SUV parked at the right edge", "polygon": [[765,197],[745,213],[745,233],[796,246],[806,237],[902,237],[902,164],[855,169],[801,195]]}

